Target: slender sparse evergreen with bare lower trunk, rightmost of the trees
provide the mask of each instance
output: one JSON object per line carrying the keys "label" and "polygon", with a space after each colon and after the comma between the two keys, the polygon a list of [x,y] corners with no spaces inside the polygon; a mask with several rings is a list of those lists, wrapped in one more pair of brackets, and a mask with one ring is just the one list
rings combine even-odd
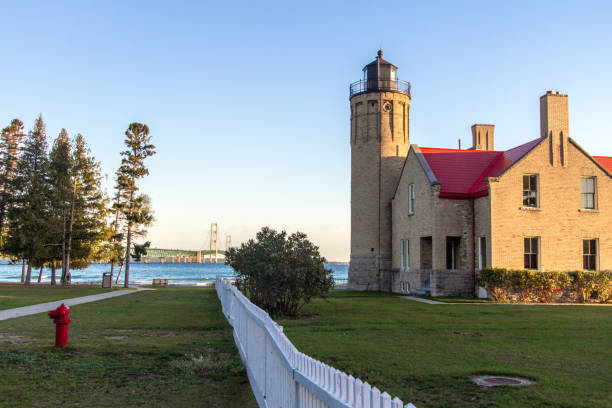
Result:
{"label": "slender sparse evergreen with bare lower trunk, rightmost of the trees", "polygon": [[142,123],[131,123],[125,135],[127,150],[121,152],[123,158],[118,170],[117,190],[119,208],[126,224],[124,286],[128,287],[133,236],[143,235],[145,228],[153,223],[150,199],[138,193],[137,181],[149,174],[144,161],[155,154],[155,146],[151,144],[149,127]]}

